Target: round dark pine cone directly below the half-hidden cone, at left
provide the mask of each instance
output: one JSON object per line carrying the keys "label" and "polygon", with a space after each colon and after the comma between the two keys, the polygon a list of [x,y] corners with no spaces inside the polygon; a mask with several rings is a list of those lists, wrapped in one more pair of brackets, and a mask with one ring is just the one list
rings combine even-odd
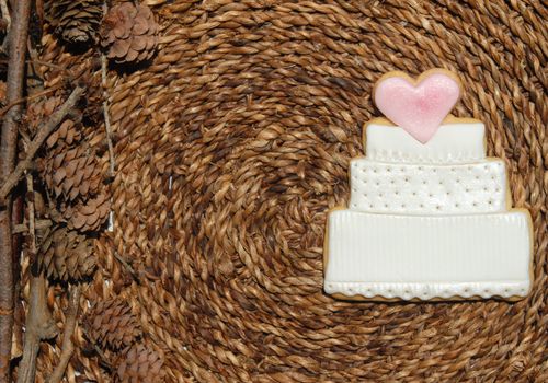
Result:
{"label": "round dark pine cone directly below the half-hidden cone, at left", "polygon": [[95,269],[91,240],[67,228],[54,229],[45,235],[38,262],[48,277],[59,280],[79,280]]}

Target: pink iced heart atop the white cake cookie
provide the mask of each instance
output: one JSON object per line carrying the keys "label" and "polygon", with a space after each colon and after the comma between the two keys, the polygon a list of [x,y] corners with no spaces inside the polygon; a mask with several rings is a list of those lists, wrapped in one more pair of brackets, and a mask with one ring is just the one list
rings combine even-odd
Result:
{"label": "pink iced heart atop the white cake cookie", "polygon": [[435,135],[459,96],[459,83],[438,71],[423,73],[416,84],[390,76],[380,79],[374,90],[380,112],[422,143]]}

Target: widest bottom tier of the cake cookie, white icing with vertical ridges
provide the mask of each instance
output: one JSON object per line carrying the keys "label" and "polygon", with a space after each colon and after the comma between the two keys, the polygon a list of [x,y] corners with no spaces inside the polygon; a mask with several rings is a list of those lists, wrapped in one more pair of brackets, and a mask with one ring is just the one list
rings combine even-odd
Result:
{"label": "widest bottom tier of the cake cookie, white icing with vertical ridges", "polygon": [[329,214],[324,290],[354,299],[520,299],[530,287],[525,210],[470,216]]}

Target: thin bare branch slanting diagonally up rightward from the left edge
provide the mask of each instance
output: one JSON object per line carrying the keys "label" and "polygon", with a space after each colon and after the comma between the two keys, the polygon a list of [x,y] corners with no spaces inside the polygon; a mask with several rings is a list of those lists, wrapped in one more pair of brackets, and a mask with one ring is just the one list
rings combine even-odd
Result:
{"label": "thin bare branch slanting diagonally up rightward from the left edge", "polygon": [[38,132],[28,146],[26,158],[18,163],[15,170],[5,178],[2,187],[0,188],[0,204],[5,199],[11,189],[19,183],[19,179],[21,178],[23,173],[31,166],[34,155],[42,147],[44,141],[62,121],[65,116],[71,112],[82,94],[83,89],[76,88],[72,93],[70,93],[70,96],[67,98],[65,104],[62,104],[57,111],[55,111],[46,120],[46,123],[44,123],[39,127]]}

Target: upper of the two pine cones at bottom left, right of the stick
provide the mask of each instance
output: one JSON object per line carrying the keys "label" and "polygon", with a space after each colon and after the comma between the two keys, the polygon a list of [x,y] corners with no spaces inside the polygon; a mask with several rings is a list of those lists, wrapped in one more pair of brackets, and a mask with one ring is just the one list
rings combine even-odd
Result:
{"label": "upper of the two pine cones at bottom left, right of the stick", "polygon": [[114,350],[129,346],[141,335],[132,307],[119,298],[99,301],[87,314],[84,326],[91,341]]}

